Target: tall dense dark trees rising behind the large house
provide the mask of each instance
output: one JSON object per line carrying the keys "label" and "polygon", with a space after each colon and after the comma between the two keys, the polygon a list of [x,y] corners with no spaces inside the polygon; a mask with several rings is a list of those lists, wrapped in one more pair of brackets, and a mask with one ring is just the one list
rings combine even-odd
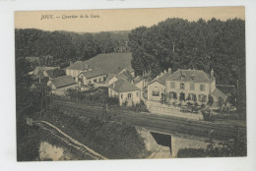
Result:
{"label": "tall dense dark trees rising behind the large house", "polygon": [[245,77],[245,21],[212,19],[188,22],[167,19],[151,28],[135,28],[129,34],[132,67],[137,75],[152,71],[156,76],[169,67],[213,68],[219,84],[236,85]]}

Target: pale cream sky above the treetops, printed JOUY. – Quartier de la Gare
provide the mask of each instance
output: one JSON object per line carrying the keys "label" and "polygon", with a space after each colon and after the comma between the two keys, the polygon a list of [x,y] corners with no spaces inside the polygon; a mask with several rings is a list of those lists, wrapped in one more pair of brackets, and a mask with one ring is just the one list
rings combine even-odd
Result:
{"label": "pale cream sky above the treetops, printed JOUY. \u2013 Quartier de la Gare", "polygon": [[[83,18],[82,18],[83,17]],[[141,26],[151,27],[167,18],[182,18],[197,21],[212,18],[245,19],[245,8],[199,7],[199,8],[156,8],[119,10],[76,10],[76,11],[17,11],[15,28],[39,28],[43,30],[68,30],[76,32],[98,32],[131,30]]]}

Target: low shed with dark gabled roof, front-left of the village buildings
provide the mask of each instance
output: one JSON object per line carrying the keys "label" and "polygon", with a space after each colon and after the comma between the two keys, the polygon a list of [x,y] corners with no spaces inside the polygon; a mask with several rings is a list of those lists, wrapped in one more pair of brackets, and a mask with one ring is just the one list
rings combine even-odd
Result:
{"label": "low shed with dark gabled roof, front-left of the village buildings", "polygon": [[63,76],[50,80],[47,85],[51,88],[52,93],[57,95],[65,95],[68,88],[77,86],[75,80],[71,76]]}

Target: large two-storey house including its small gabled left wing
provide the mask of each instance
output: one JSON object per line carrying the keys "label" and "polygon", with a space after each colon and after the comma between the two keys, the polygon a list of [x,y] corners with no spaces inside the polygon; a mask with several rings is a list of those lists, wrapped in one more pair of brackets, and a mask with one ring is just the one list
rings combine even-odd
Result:
{"label": "large two-storey house including its small gabled left wing", "polygon": [[190,101],[207,104],[212,98],[212,106],[218,107],[227,95],[216,87],[214,71],[211,75],[202,70],[179,69],[171,73],[163,72],[148,85],[148,100],[181,102]]}

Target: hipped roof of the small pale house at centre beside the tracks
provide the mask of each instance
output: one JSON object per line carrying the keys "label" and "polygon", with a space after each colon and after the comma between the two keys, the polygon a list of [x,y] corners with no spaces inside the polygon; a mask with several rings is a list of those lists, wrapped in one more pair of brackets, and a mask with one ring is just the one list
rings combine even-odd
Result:
{"label": "hipped roof of the small pale house at centre beside the tracks", "polygon": [[116,92],[129,92],[129,91],[135,91],[135,90],[140,90],[139,87],[124,81],[122,79],[116,81],[112,85],[108,86],[109,88],[113,89]]}

